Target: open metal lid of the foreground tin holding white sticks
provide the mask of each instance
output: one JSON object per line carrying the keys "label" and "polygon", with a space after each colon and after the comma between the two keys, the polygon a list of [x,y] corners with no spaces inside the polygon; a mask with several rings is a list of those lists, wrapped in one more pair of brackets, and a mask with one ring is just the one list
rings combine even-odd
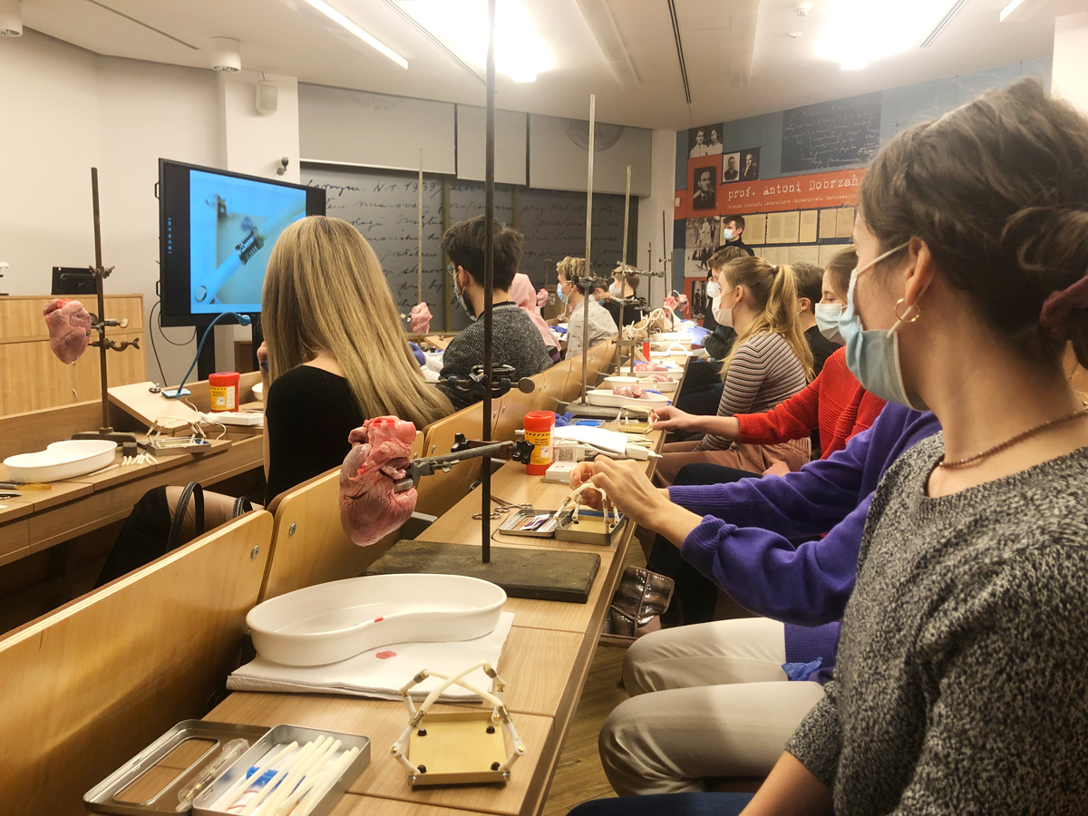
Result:
{"label": "open metal lid of the foreground tin holding white sticks", "polygon": [[[233,722],[206,722],[199,719],[187,719],[178,722],[166,733],[152,742],[136,756],[122,765],[110,776],[84,794],[83,803],[88,811],[95,813],[114,813],[123,816],[144,816],[149,813],[177,813],[177,791],[196,777],[209,763],[214,762],[219,751],[231,740],[244,739],[250,746],[269,733],[268,728],[257,726],[239,726]],[[210,740],[214,744],[203,751],[197,751],[195,758],[186,758],[184,767],[171,763],[170,757],[175,749],[186,740]],[[249,752],[247,752],[248,755]],[[166,759],[162,767],[160,763]],[[148,790],[158,788],[140,801],[118,800],[126,789],[137,790],[135,782],[148,775]],[[158,774],[158,776],[156,776]],[[169,778],[173,776],[172,781]],[[162,780],[157,783],[157,780]],[[137,798],[143,794],[135,794]]]}

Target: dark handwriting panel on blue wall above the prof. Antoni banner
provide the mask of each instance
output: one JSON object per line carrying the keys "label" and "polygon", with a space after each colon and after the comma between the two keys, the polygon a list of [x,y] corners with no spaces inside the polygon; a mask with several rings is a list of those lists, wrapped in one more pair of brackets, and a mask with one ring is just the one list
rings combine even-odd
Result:
{"label": "dark handwriting panel on blue wall above the prof. Antoni banner", "polygon": [[806,104],[782,114],[782,172],[867,162],[880,149],[880,94]]}

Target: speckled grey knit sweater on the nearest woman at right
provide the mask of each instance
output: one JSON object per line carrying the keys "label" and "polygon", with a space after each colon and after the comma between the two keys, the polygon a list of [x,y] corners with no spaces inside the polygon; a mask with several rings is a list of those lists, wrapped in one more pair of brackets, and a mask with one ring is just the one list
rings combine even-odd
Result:
{"label": "speckled grey knit sweater on the nearest woman at right", "polygon": [[834,680],[787,751],[837,816],[1088,814],[1088,448],[929,498],[876,491]]}

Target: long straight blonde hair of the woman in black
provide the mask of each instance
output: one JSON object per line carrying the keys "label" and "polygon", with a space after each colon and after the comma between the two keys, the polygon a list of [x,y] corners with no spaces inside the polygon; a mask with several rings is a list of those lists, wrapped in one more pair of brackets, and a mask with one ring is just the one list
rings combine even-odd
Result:
{"label": "long straight blonde hair of the woman in black", "polygon": [[363,417],[393,415],[422,429],[453,413],[419,372],[378,256],[346,221],[311,215],[283,231],[261,309],[271,382],[324,350]]}

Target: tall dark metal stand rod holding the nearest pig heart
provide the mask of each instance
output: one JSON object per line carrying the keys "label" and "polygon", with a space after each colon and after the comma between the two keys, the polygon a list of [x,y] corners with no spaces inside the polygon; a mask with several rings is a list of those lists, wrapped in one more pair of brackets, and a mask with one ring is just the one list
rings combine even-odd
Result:
{"label": "tall dark metal stand rod holding the nearest pig heart", "polygon": [[[495,286],[495,0],[487,0],[487,124],[484,144],[484,249],[483,249],[483,441],[491,440],[492,334]],[[491,564],[491,458],[480,466],[480,534],[483,562]]]}

